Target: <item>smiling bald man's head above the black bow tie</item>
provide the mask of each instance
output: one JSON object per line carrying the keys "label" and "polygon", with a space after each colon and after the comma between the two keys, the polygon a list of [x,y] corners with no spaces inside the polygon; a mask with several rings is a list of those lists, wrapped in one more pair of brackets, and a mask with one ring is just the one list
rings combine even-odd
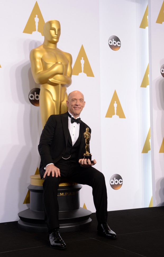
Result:
{"label": "smiling bald man's head above the black bow tie", "polygon": [[80,91],[73,91],[69,94],[68,101],[66,101],[69,112],[76,119],[79,117],[81,111],[85,106],[84,96]]}

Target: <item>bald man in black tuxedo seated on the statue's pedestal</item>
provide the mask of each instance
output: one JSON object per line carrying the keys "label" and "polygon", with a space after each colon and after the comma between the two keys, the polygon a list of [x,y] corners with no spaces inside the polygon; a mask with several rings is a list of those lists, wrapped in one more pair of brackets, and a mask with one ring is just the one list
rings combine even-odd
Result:
{"label": "bald man in black tuxedo seated on the statue's pedestal", "polygon": [[[73,91],[66,101],[69,111],[51,115],[42,131],[38,146],[41,162],[40,177],[43,182],[43,205],[45,222],[49,232],[49,244],[54,249],[66,248],[59,234],[57,190],[61,178],[79,184],[92,186],[93,200],[98,221],[99,235],[117,238],[107,223],[107,190],[104,175],[96,170],[93,163],[83,158],[85,153],[84,132],[91,129],[82,120],[80,113],[85,106],[80,91]],[[90,152],[90,150],[89,150]]]}

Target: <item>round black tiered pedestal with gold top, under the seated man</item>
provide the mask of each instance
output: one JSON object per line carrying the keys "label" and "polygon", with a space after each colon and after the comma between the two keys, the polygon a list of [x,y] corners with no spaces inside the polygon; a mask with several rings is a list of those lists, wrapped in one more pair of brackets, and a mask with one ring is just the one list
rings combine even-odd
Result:
{"label": "round black tiered pedestal with gold top, under the seated man", "polygon": [[[43,179],[30,176],[30,208],[18,213],[18,227],[28,232],[47,232],[43,209]],[[88,228],[91,211],[80,207],[80,189],[76,183],[61,180],[58,189],[60,232],[72,232]]]}

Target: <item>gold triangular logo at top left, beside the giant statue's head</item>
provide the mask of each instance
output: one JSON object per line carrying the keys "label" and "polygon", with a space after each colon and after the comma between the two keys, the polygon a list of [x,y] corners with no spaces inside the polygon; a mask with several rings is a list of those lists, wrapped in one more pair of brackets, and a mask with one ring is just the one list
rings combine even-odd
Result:
{"label": "gold triangular logo at top left, beside the giant statue's head", "polygon": [[30,14],[28,22],[24,28],[23,33],[36,34],[43,36],[44,19],[40,11],[39,5],[36,2]]}

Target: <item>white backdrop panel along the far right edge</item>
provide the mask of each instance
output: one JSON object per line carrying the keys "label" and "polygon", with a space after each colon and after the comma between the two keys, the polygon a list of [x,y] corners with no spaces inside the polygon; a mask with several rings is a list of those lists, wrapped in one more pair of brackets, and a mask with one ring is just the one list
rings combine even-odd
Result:
{"label": "white backdrop panel along the far right edge", "polygon": [[[149,1],[149,63],[150,63],[150,109],[153,204],[164,205],[164,77],[161,66],[164,64],[164,2]],[[158,20],[157,20],[158,19]],[[160,23],[159,23],[160,22]],[[151,136],[151,137],[152,137]],[[161,150],[161,151],[160,151]]]}

